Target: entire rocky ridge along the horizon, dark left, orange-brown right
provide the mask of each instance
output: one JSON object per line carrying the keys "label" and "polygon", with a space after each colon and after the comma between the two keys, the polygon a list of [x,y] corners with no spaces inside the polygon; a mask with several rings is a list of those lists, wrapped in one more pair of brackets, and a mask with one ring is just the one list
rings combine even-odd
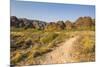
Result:
{"label": "entire rocky ridge along the horizon, dark left, orange-brown right", "polygon": [[75,22],[71,21],[57,21],[57,22],[45,22],[39,20],[29,20],[26,18],[17,18],[16,16],[10,17],[11,27],[15,28],[34,28],[38,30],[63,30],[80,27],[91,27],[95,25],[95,19],[91,17],[79,17]]}

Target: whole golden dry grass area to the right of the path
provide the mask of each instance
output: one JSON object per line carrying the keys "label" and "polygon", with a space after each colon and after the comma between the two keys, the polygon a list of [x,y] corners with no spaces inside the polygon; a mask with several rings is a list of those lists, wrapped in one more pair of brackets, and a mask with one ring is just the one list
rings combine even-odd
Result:
{"label": "whole golden dry grass area to the right of the path", "polygon": [[73,47],[71,56],[77,62],[95,61],[95,34],[93,31],[82,31]]}

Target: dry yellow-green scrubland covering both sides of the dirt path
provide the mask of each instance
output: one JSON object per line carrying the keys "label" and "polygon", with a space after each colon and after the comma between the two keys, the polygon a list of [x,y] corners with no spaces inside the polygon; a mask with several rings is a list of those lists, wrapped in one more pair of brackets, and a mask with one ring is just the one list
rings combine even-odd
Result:
{"label": "dry yellow-green scrubland covering both sides of the dirt path", "polygon": [[[39,64],[42,56],[56,47],[66,39],[80,35],[78,45],[75,47],[78,51],[74,59],[84,61],[84,57],[94,56],[95,36],[90,31],[33,31],[25,30],[11,32],[11,64],[13,65],[31,65]],[[73,54],[74,54],[73,53]],[[79,56],[79,57],[78,57]],[[37,58],[40,57],[38,60]],[[81,59],[81,57],[83,59]],[[44,58],[45,59],[45,58]],[[81,60],[79,60],[81,59]],[[93,59],[93,58],[92,58]],[[90,60],[90,58],[89,58]]]}

